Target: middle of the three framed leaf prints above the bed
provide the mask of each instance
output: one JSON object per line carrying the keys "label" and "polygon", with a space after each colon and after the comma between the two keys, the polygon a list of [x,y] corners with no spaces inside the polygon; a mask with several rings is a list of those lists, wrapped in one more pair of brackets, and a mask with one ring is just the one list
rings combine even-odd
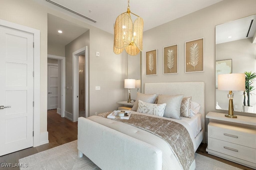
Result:
{"label": "middle of the three framed leaf prints above the bed", "polygon": [[178,73],[178,44],[163,48],[164,74]]}

